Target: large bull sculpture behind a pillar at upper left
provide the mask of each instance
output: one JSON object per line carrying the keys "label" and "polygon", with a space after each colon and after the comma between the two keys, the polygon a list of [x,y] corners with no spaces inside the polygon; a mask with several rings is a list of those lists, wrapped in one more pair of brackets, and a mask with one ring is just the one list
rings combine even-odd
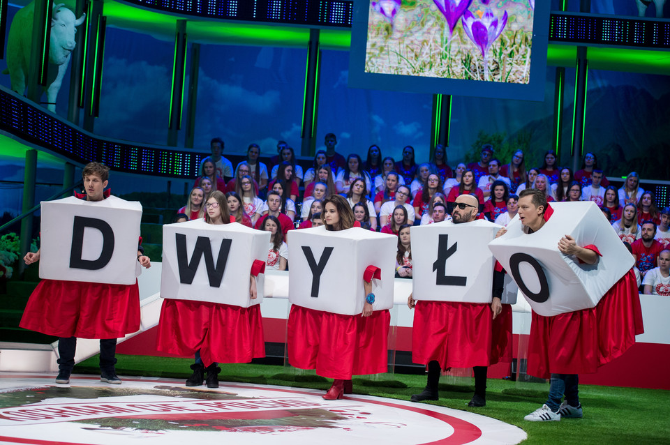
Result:
{"label": "large bull sculpture behind a pillar at upper left", "polygon": [[[49,63],[58,67],[56,77],[49,70],[47,77],[47,109],[56,111],[56,96],[61,89],[63,77],[70,63],[70,54],[75,49],[75,33],[80,24],[84,22],[86,14],[78,19],[64,3],[53,6],[51,31],[49,40]],[[33,17],[35,14],[35,3],[31,1],[27,6],[21,8],[12,21],[9,29],[7,43],[7,70],[9,73],[12,89],[23,94],[26,89],[26,78],[30,66],[31,40],[33,33]]]}

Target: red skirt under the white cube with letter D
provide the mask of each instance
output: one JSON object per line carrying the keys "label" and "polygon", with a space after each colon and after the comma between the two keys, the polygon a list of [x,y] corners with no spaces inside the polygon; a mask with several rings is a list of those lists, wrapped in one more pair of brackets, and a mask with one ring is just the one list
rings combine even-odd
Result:
{"label": "red skirt under the white cube with letter D", "polygon": [[140,289],[137,282],[42,280],[19,326],[56,337],[121,338],[140,329]]}

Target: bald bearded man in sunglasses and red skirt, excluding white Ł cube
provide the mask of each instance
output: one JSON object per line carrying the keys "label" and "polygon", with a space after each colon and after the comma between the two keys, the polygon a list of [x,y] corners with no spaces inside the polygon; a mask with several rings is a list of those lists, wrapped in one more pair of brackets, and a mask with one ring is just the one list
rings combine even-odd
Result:
{"label": "bald bearded man in sunglasses and red skirt, excluding white \u0141 cube", "polygon": [[[460,195],[454,204],[452,222],[472,223],[477,219],[478,211],[477,197]],[[487,367],[497,363],[503,355],[509,355],[511,359],[512,310],[507,304],[503,308],[501,303],[504,279],[504,273],[493,272],[490,304],[415,301],[410,295],[408,306],[410,309],[416,308],[412,327],[412,361],[428,364],[426,388],[412,395],[412,402],[438,400],[438,382],[442,369],[472,366],[475,394],[468,406],[486,405]]]}

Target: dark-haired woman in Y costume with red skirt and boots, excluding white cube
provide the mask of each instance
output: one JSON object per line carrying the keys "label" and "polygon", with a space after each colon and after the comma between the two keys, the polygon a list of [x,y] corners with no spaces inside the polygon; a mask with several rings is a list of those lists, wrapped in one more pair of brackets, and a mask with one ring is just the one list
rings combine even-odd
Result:
{"label": "dark-haired woman in Y costume with red skirt and boots, excluding white cube", "polygon": [[[328,231],[354,227],[354,213],[346,199],[333,195],[324,202],[322,220]],[[386,372],[387,338],[391,315],[373,310],[371,282],[363,280],[365,298],[361,315],[341,315],[293,304],[288,316],[288,358],[301,369],[316,368],[317,375],[334,379],[323,396],[342,398],[352,392],[352,375]],[[358,359],[360,358],[360,359]]]}

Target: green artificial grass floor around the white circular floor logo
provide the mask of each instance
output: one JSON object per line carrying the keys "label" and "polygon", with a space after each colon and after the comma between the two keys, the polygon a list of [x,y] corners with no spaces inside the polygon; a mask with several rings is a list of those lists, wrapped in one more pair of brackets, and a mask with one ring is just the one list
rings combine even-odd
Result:
{"label": "green artificial grass floor around the white circular floor logo", "polygon": [[[117,374],[186,379],[191,375],[189,359],[153,356],[117,356]],[[75,366],[73,372],[98,374],[98,356]],[[323,389],[332,380],[313,371],[277,365],[223,364],[222,382],[248,382],[299,388]],[[445,378],[443,377],[442,380]],[[454,409],[475,412],[516,425],[526,431],[523,444],[670,444],[670,391],[607,386],[579,386],[583,406],[581,419],[560,422],[527,422],[523,416],[542,406],[549,384],[517,384],[489,379],[486,407],[468,408],[472,397],[472,379],[463,384],[440,383],[440,400],[429,402]],[[382,374],[353,379],[354,393],[409,400],[426,385],[424,375]]]}

